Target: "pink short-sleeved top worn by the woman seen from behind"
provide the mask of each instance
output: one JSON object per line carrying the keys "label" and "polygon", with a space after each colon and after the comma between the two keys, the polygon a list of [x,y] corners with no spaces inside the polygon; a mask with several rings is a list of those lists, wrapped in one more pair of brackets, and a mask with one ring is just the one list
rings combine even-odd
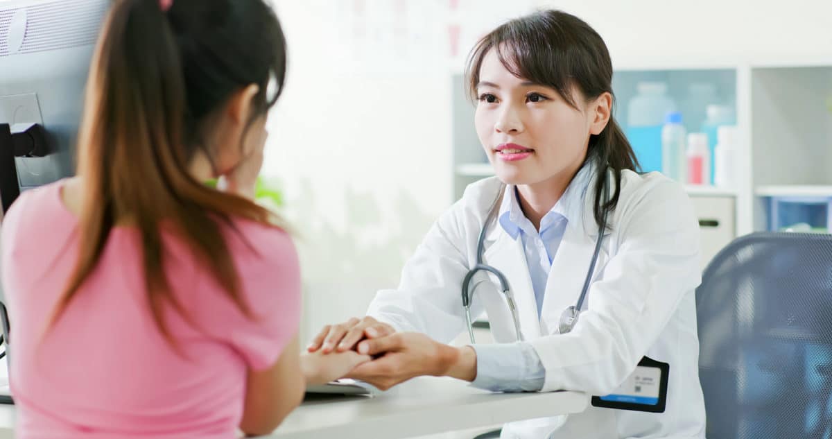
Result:
{"label": "pink short-sleeved top worn by the woman seen from behind", "polygon": [[274,364],[298,330],[300,269],[290,237],[247,220],[235,221],[240,234],[225,230],[243,297],[260,317],[252,321],[185,244],[163,234],[171,289],[203,329],[168,310],[185,359],[156,329],[135,229],[113,229],[97,269],[38,345],[77,259],[77,218],[61,188],[23,193],[2,224],[18,439],[235,437],[247,369]]}

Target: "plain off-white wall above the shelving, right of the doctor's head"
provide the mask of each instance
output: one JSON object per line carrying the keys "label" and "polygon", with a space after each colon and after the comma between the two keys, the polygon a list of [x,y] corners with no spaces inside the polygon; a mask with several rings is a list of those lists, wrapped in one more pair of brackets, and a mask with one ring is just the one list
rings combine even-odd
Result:
{"label": "plain off-white wall above the shelving, right of the doctor's head", "polygon": [[617,67],[832,62],[828,0],[540,0],[582,17]]}

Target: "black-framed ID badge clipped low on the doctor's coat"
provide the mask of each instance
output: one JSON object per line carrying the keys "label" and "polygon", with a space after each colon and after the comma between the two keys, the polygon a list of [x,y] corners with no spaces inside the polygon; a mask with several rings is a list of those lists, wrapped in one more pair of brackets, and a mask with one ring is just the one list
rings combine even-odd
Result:
{"label": "black-framed ID badge clipped low on the doctor's coat", "polygon": [[667,376],[671,365],[652,358],[641,358],[636,372],[614,392],[605,397],[592,397],[592,406],[662,413],[667,402]]}

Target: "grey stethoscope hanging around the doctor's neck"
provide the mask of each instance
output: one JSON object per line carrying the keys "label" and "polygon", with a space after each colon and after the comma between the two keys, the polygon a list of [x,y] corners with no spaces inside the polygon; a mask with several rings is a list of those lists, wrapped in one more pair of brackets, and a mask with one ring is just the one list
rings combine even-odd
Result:
{"label": "grey stethoscope hanging around the doctor's neck", "polygon": [[[509,288],[508,279],[506,279],[505,274],[503,274],[500,270],[495,269],[491,265],[483,264],[485,234],[488,231],[488,224],[490,224],[497,217],[499,210],[499,201],[502,199],[504,191],[505,185],[502,185],[497,193],[497,198],[494,200],[494,204],[491,206],[491,209],[488,212],[488,218],[486,218],[485,223],[483,224],[483,229],[481,229],[479,232],[479,239],[477,242],[477,264],[473,266],[473,269],[468,270],[468,274],[465,274],[465,278],[463,279],[463,308],[465,308],[465,323],[468,325],[468,337],[471,338],[471,343],[477,343],[473,337],[473,323],[471,321],[471,298],[473,296],[473,289],[477,289],[477,286],[480,283],[478,282],[477,284],[475,284],[473,286],[473,289],[470,289],[470,284],[474,274],[477,274],[479,271],[487,271],[488,273],[491,273],[497,277],[500,290],[502,291],[503,295],[506,296],[508,310],[512,313],[512,320],[514,321],[514,332],[517,334],[517,340],[518,342],[522,342],[525,340],[525,338],[523,338],[522,336],[522,331],[520,330],[520,318],[518,316],[517,303],[514,301],[514,294],[512,293],[511,288]],[[604,200],[609,200],[609,192],[609,180],[607,179],[607,185],[604,185]],[[589,269],[587,270],[587,279],[584,279],[583,281],[581,295],[577,298],[577,303],[570,306],[569,308],[564,309],[563,313],[561,314],[561,320],[558,324],[558,328],[560,329],[560,333],[562,334],[568,333],[572,331],[572,328],[575,328],[578,314],[581,313],[583,301],[585,298],[587,298],[589,283],[592,280],[592,272],[595,271],[595,264],[598,260],[598,254],[601,252],[601,241],[604,238],[604,230],[607,229],[608,212],[609,210],[604,210],[604,215],[601,221],[601,229],[598,229],[598,238],[595,241],[595,253],[592,254],[592,261],[589,263]]]}

